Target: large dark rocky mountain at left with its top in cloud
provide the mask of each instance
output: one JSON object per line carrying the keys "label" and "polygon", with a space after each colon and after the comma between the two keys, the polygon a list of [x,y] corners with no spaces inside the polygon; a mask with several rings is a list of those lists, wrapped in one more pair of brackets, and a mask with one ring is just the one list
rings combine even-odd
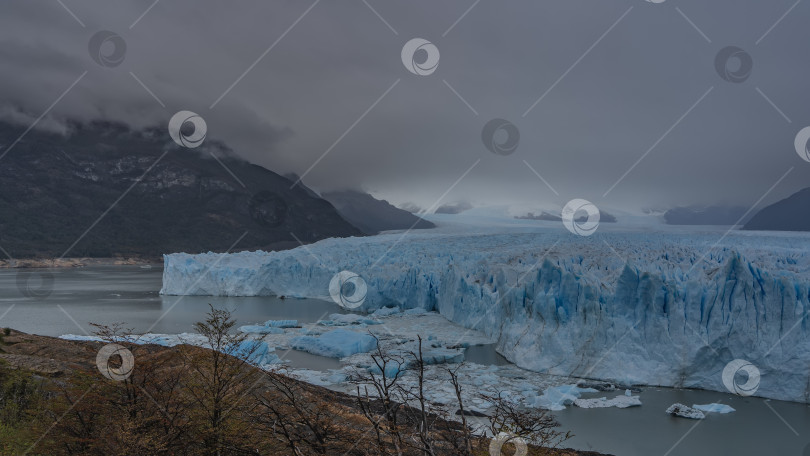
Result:
{"label": "large dark rocky mountain at left with its top in cloud", "polygon": [[[22,131],[0,123],[0,154]],[[0,246],[15,258],[156,257],[361,234],[327,201],[291,185],[222,144],[181,148],[165,130],[33,130],[0,159]]]}

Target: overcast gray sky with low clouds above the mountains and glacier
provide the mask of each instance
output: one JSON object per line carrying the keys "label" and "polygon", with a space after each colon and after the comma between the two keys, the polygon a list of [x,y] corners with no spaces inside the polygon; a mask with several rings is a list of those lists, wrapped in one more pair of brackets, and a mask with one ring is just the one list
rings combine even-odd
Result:
{"label": "overcast gray sky with low clouds above the mountains and glacier", "polygon": [[[808,18],[795,0],[8,0],[0,116],[27,125],[63,93],[39,127],[190,110],[313,188],[422,207],[451,187],[442,203],[750,206],[794,167],[767,204],[810,186]],[[120,65],[91,58],[100,30]],[[412,38],[440,51],[432,74],[403,65]],[[716,71],[729,45],[753,61],[742,83]],[[482,142],[493,118],[520,132],[511,155]]]}

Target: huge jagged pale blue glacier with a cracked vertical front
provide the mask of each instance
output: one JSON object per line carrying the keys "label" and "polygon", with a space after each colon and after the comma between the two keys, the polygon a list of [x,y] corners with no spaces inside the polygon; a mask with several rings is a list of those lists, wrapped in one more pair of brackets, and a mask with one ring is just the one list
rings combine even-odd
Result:
{"label": "huge jagged pale blue glacier with a cracked vertical front", "polygon": [[723,370],[743,359],[761,374],[754,395],[810,401],[808,233],[429,219],[438,228],[166,255],[161,293],[328,300],[348,270],[367,283],[357,311],[437,311],[524,369],[729,391]]}

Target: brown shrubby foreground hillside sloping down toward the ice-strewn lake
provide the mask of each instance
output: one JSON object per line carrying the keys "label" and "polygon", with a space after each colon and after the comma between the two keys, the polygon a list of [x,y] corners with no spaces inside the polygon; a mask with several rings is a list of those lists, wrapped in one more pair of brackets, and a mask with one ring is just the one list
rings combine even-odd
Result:
{"label": "brown shrubby foreground hillside sloping down toward the ice-strewn lake", "polygon": [[[227,315],[212,315],[196,326],[222,351],[135,345],[101,328],[131,350],[129,376],[117,355],[99,363],[103,343],[5,330],[0,455],[411,456],[427,454],[426,444],[437,456],[490,454],[490,439],[457,421],[378,399],[392,396],[340,394],[246,364],[241,355],[254,352],[228,354],[237,354],[230,342],[246,344],[224,335]],[[395,427],[386,425],[392,410]],[[553,424],[544,422],[544,432],[559,434]],[[528,454],[597,455],[534,446]]]}

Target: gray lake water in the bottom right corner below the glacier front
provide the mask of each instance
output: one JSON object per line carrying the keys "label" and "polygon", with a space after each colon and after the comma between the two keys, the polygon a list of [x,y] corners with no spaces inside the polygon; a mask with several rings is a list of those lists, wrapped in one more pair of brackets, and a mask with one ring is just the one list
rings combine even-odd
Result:
{"label": "gray lake water in the bottom right corner below the glacier front", "polygon": [[[583,397],[613,397],[621,392]],[[806,456],[810,445],[810,407],[756,397],[699,390],[645,388],[641,407],[578,409],[554,416],[575,437],[567,446],[621,456],[785,455]],[[722,403],[736,412],[707,413],[704,420],[665,413],[670,405]]]}

